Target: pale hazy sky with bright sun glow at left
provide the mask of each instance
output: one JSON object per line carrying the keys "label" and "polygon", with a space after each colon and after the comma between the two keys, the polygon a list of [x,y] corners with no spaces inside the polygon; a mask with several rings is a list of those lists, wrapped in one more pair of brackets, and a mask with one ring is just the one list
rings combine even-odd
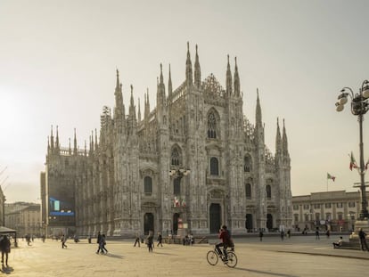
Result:
{"label": "pale hazy sky with bright sun glow at left", "polygon": [[[266,146],[275,153],[285,120],[293,196],[357,191],[357,117],[338,113],[344,86],[369,79],[368,1],[340,0],[0,0],[0,184],[7,203],[38,202],[47,136],[84,148],[114,106],[116,69],[126,110],[149,89],[156,106],[160,63],[173,88],[185,78],[187,42],[199,47],[201,78],[225,87],[227,54],[241,78],[243,112],[255,123],[257,89]],[[348,106],[349,107],[349,106]],[[348,108],[347,107],[347,108]],[[369,113],[368,113],[369,116]],[[366,117],[368,117],[366,116]],[[366,118],[365,118],[366,119]],[[369,125],[364,121],[365,161]],[[327,173],[336,176],[327,179]]]}

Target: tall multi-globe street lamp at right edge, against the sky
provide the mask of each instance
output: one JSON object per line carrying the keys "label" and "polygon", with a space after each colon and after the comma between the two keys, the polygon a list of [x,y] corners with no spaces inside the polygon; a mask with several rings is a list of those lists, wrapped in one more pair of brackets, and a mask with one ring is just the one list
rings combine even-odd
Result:
{"label": "tall multi-globe street lamp at right edge, against the sky", "polygon": [[[351,98],[351,113],[357,116],[360,130],[360,167],[358,173],[360,175],[360,190],[361,190],[361,210],[359,219],[364,220],[368,218],[367,200],[365,192],[365,165],[364,165],[364,145],[363,145],[363,121],[364,115],[369,110],[369,81],[365,80],[359,90],[359,94],[354,94],[351,88],[345,86],[341,89],[341,94],[338,96],[338,102],[336,102],[336,110],[342,111],[344,105],[348,102],[348,96]],[[349,92],[349,93],[348,93]]]}

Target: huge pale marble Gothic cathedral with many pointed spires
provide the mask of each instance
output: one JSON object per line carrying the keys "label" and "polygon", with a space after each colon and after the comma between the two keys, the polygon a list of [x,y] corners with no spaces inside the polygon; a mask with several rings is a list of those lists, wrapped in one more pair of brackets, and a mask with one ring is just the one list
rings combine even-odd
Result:
{"label": "huge pale marble Gothic cathedral with many pointed spires", "polygon": [[117,69],[115,106],[102,108],[100,132],[90,135],[88,148],[78,149],[76,131],[74,142],[61,147],[52,127],[41,173],[47,234],[206,235],[222,224],[234,234],[291,228],[284,120],[282,130],[276,120],[273,155],[259,97],[255,125],[243,115],[236,59],[233,71],[228,56],[225,88],[212,74],[201,79],[198,47],[193,63],[187,44],[184,82],[173,88],[170,67],[164,82],[160,64],[156,107],[147,92],[142,115],[133,86],[126,112]]}

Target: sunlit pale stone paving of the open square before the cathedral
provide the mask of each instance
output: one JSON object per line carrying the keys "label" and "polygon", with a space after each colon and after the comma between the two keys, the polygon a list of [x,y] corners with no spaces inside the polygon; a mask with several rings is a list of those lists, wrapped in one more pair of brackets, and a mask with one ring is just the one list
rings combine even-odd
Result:
{"label": "sunlit pale stone paving of the open square before the cathedral", "polygon": [[[56,240],[35,240],[31,246],[19,240],[12,248],[9,267],[3,273],[21,277],[44,276],[367,276],[369,252],[333,249],[331,239],[314,236],[234,238],[238,264],[228,268],[219,263],[209,265],[207,252],[211,244],[182,246],[163,244],[149,253],[144,244],[133,247],[132,240],[108,240],[106,255],[95,254],[96,243],[68,240],[61,248]],[[347,237],[344,238],[348,240]],[[95,242],[95,239],[93,240]],[[217,240],[209,240],[215,243]]]}

